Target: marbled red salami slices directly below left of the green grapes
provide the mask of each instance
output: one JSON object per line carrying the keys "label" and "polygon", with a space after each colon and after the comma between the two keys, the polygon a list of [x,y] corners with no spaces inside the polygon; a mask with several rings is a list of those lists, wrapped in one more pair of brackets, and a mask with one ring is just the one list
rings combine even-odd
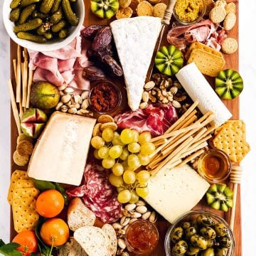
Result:
{"label": "marbled red salami slices directly below left of the green grapes", "polygon": [[85,206],[103,223],[113,223],[120,217],[122,205],[117,201],[117,191],[102,166],[87,164],[82,186],[66,192],[69,196],[81,197]]}

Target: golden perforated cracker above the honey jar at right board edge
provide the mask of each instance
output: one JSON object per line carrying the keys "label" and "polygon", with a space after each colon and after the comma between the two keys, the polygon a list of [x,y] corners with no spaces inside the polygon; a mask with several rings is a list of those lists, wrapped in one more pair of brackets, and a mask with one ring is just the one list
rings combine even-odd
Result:
{"label": "golden perforated cracker above the honey jar at right board edge", "polygon": [[224,124],[213,139],[213,146],[225,151],[231,161],[240,163],[250,151],[250,145],[245,140],[245,123],[242,120],[231,120]]}

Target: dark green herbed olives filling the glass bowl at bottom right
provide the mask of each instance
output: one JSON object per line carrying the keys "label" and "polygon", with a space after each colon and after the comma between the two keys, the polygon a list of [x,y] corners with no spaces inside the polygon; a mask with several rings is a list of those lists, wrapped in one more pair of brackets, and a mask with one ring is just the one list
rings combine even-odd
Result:
{"label": "dark green herbed olives filling the glass bowl at bottom right", "polygon": [[227,256],[232,238],[223,223],[209,215],[198,215],[178,225],[171,233],[171,256]]}

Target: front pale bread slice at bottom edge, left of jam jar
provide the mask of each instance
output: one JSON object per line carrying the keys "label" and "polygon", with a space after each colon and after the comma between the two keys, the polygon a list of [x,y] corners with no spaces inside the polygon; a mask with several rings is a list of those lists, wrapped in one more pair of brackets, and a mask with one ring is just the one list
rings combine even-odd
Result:
{"label": "front pale bread slice at bottom edge, left of jam jar", "polygon": [[107,234],[97,227],[82,227],[74,232],[75,240],[88,256],[111,256],[110,240]]}

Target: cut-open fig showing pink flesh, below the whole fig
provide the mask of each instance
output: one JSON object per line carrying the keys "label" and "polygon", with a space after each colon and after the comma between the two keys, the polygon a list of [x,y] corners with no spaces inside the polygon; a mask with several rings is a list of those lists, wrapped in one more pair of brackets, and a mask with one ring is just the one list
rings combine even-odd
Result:
{"label": "cut-open fig showing pink flesh, below the whole fig", "polygon": [[46,124],[47,116],[43,110],[30,108],[21,117],[22,132],[32,138],[37,138]]}

